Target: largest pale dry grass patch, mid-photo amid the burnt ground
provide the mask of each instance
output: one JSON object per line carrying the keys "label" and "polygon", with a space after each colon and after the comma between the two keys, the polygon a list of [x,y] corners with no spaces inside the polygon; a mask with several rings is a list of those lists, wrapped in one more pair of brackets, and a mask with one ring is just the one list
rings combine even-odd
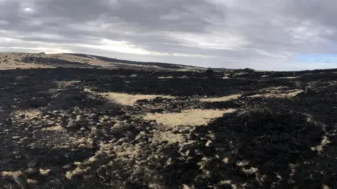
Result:
{"label": "largest pale dry grass patch, mid-photo amid the burnt ground", "polygon": [[224,113],[232,113],[235,109],[224,110],[202,110],[190,109],[181,113],[147,113],[145,120],[156,120],[157,123],[166,127],[176,127],[179,125],[207,125],[214,118],[223,116]]}

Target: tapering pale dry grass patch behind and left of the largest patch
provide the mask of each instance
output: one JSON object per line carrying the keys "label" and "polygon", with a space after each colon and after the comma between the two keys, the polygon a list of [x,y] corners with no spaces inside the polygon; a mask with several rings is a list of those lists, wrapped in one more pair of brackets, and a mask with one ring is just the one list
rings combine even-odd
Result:
{"label": "tapering pale dry grass patch behind and left of the largest patch", "polygon": [[171,96],[167,95],[152,95],[152,94],[127,94],[127,93],[118,93],[118,92],[93,92],[90,89],[85,89],[87,92],[91,92],[93,94],[98,94],[102,97],[105,97],[106,99],[117,102],[118,104],[125,105],[125,106],[132,106],[133,104],[136,104],[138,100],[141,99],[155,99],[157,97],[161,98],[172,98]]}

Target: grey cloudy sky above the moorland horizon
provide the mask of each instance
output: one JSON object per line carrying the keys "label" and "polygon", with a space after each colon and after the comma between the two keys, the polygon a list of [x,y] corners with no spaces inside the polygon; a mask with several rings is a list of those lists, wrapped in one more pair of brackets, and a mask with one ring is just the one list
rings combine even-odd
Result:
{"label": "grey cloudy sky above the moorland horizon", "polygon": [[335,0],[0,0],[0,52],[337,68]]}

